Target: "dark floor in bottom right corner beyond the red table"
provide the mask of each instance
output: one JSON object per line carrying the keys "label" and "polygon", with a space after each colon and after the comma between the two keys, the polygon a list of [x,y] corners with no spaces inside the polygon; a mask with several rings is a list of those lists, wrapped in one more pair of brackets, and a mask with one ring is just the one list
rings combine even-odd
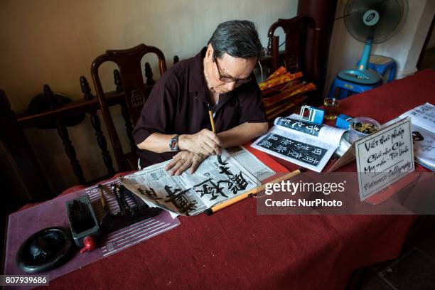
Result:
{"label": "dark floor in bottom right corner beyond the red table", "polygon": [[435,289],[435,229],[394,262],[369,271],[361,290]]}

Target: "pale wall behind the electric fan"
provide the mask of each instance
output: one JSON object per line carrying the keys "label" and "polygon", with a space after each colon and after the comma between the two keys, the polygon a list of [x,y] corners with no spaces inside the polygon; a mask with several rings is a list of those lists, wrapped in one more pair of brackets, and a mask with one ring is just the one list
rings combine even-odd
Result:
{"label": "pale wall behind the electric fan", "polygon": [[[417,71],[417,60],[429,31],[435,11],[433,0],[409,0],[407,22],[402,31],[372,46],[372,54],[385,55],[397,62],[397,77],[405,77]],[[345,0],[339,0],[335,18],[343,16]],[[345,28],[343,18],[335,20],[328,58],[326,92],[340,70],[351,68],[358,62],[364,44],[356,41]]]}

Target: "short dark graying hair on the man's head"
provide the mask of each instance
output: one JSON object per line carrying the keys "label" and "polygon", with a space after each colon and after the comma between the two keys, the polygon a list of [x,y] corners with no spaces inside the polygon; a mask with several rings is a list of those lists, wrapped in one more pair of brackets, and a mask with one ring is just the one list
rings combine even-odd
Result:
{"label": "short dark graying hair on the man's head", "polygon": [[259,58],[263,50],[254,23],[247,20],[220,23],[208,44],[213,46],[216,58],[224,53],[234,58]]}

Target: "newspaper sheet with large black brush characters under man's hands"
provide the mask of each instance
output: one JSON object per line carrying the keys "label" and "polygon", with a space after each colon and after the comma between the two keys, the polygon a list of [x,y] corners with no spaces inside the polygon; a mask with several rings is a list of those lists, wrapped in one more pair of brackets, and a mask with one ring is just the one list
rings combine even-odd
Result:
{"label": "newspaper sheet with large black brush characters under man's hands", "polygon": [[194,174],[185,171],[181,176],[171,176],[164,170],[169,162],[154,164],[119,180],[151,207],[175,215],[197,215],[274,175],[274,171],[242,147],[223,150],[222,163],[216,156],[208,157]]}

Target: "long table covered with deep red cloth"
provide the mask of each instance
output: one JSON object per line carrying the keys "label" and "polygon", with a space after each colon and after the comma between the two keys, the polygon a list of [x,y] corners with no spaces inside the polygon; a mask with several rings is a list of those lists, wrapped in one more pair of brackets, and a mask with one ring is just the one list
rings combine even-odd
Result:
{"label": "long table covered with deep red cloth", "polygon": [[[345,114],[387,122],[435,103],[435,71],[353,95]],[[280,159],[276,159],[280,160]],[[282,164],[293,169],[293,164]],[[416,166],[418,171],[426,171]],[[343,171],[355,171],[350,163]],[[249,198],[50,281],[82,289],[343,289],[353,270],[399,254],[415,216],[257,215]]]}

